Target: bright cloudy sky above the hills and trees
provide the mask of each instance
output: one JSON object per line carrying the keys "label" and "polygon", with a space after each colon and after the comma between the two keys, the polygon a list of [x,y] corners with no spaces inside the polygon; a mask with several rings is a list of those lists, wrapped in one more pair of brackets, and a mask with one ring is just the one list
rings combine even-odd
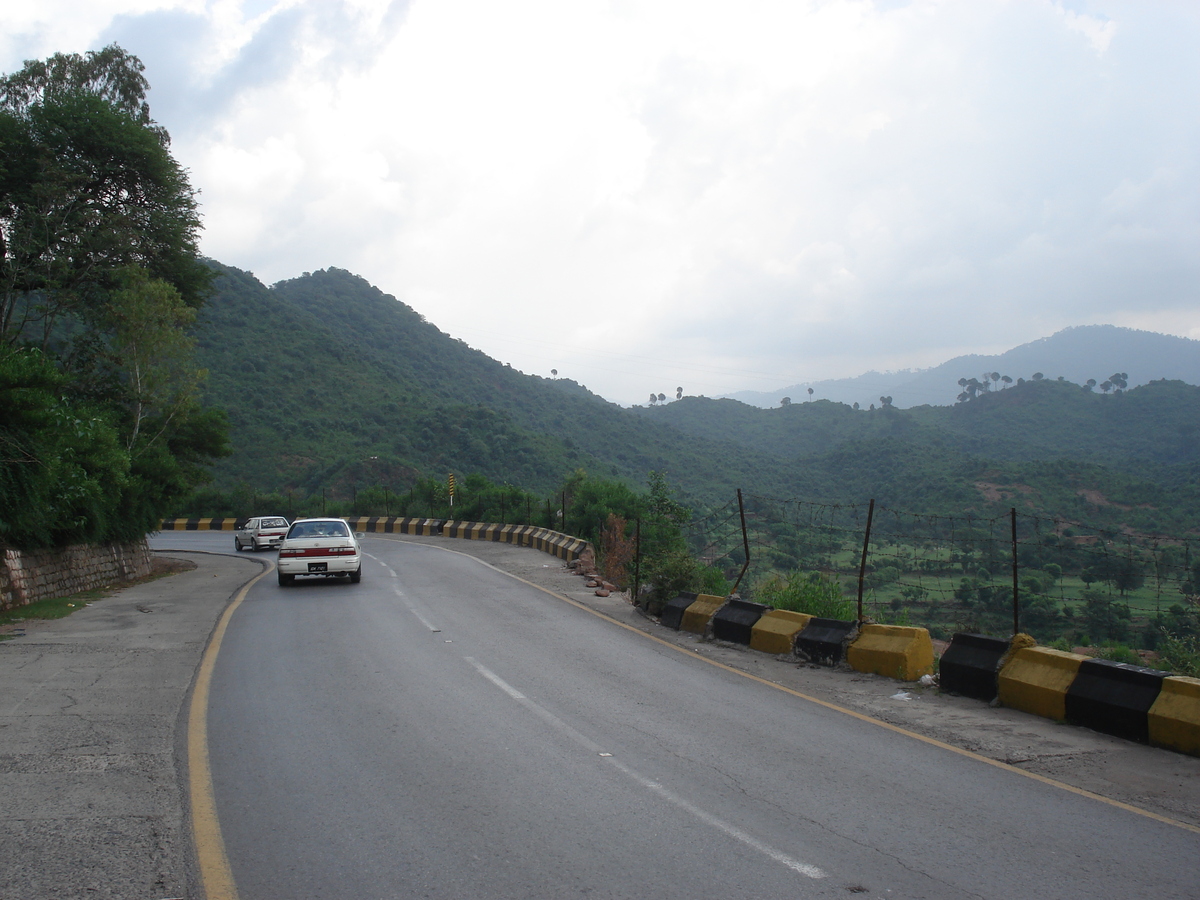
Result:
{"label": "bright cloudy sky above the hills and trees", "polygon": [[204,252],[337,266],[618,403],[1200,338],[1193,0],[41,0],[118,42]]}

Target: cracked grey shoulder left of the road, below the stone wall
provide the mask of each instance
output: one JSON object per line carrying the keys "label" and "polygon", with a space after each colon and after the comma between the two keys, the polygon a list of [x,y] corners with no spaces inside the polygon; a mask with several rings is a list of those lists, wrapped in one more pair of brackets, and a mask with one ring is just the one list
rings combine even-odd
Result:
{"label": "cracked grey shoulder left of the road, below the stone wall", "polygon": [[192,679],[264,560],[196,568],[0,642],[0,898],[188,895],[182,740]]}

